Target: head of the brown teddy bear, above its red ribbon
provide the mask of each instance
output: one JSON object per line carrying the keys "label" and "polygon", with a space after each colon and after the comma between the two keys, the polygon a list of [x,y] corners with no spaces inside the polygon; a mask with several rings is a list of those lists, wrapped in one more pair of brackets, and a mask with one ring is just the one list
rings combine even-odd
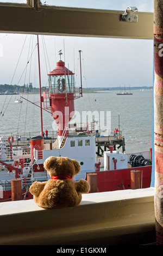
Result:
{"label": "head of the brown teddy bear, above its red ribbon", "polygon": [[80,172],[80,164],[78,161],[62,156],[49,156],[45,160],[43,166],[50,176],[66,174],[73,178],[74,175],[77,175]]}

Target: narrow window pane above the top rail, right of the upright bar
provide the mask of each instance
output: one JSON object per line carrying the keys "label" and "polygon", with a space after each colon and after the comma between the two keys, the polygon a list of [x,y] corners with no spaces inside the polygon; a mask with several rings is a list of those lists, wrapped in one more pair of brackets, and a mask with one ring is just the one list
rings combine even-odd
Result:
{"label": "narrow window pane above the top rail, right of the upright bar", "polygon": [[93,8],[106,10],[125,10],[128,6],[136,6],[139,11],[153,12],[153,0],[42,0],[42,4],[64,6],[64,7],[78,7],[78,8]]}

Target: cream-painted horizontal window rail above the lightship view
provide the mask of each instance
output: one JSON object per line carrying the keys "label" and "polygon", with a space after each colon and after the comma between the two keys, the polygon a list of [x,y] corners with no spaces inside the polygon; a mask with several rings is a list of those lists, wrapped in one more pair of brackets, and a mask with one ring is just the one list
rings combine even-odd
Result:
{"label": "cream-painted horizontal window rail above the lightship view", "polygon": [[0,32],[153,40],[153,13],[138,11],[138,22],[122,22],[124,10],[55,7],[39,2],[0,2]]}

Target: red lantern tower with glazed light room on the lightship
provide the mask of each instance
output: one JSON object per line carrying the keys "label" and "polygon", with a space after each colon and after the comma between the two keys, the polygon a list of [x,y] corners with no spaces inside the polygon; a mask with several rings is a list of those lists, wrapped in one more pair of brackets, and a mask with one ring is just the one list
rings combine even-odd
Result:
{"label": "red lantern tower with glazed light room on the lightship", "polygon": [[74,86],[74,73],[66,68],[61,54],[59,51],[60,60],[57,67],[48,74],[49,86],[43,89],[43,107],[50,109],[58,124],[59,136],[68,129],[74,112],[74,99],[82,96],[82,84],[79,88]]}

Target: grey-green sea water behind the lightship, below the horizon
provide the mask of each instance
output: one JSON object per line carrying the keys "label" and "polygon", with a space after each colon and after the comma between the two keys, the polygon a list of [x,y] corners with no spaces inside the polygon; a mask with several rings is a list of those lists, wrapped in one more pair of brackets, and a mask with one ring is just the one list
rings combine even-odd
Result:
{"label": "grey-green sea water behind the lightship, below the horizon", "polygon": [[[74,100],[75,111],[80,114],[91,111],[110,112],[109,128],[111,134],[115,128],[122,131],[126,143],[126,153],[148,151],[152,147],[153,90],[131,90],[133,95],[117,95],[115,90],[83,93],[83,97]],[[15,103],[23,96],[27,100]],[[35,103],[35,105],[31,102]],[[0,136],[40,135],[40,95],[0,95]],[[58,127],[51,113],[43,110],[43,130],[56,134]],[[3,116],[2,116],[3,115]],[[100,114],[99,114],[100,117]],[[95,117],[96,119],[96,117]],[[77,120],[77,119],[76,119]],[[82,118],[83,120],[83,118]],[[82,121],[81,119],[79,120]],[[97,126],[99,125],[99,120]],[[98,127],[101,129],[101,127]]]}

